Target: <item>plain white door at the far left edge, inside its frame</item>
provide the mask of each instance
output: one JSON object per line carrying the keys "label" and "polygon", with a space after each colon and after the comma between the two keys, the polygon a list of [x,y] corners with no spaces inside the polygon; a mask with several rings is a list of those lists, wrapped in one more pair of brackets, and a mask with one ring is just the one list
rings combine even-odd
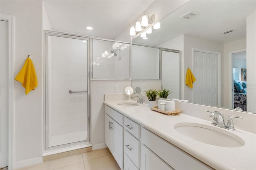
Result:
{"label": "plain white door at the far left edge, inside its frame", "polygon": [[8,22],[0,22],[0,168],[8,166]]}

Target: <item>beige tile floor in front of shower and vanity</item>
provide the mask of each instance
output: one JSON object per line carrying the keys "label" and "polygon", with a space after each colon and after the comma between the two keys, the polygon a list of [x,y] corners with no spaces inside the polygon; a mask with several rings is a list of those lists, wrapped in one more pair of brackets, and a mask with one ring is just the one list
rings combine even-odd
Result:
{"label": "beige tile floor in front of shower and vanity", "polygon": [[120,168],[108,148],[104,148],[18,170],[120,170]]}

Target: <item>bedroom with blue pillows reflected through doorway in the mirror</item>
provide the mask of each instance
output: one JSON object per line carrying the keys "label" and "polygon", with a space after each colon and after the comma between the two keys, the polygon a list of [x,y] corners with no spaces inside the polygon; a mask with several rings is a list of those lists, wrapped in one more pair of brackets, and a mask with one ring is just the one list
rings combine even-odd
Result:
{"label": "bedroom with blue pillows reflected through doorway in the mirror", "polygon": [[246,51],[232,53],[233,109],[246,111]]}

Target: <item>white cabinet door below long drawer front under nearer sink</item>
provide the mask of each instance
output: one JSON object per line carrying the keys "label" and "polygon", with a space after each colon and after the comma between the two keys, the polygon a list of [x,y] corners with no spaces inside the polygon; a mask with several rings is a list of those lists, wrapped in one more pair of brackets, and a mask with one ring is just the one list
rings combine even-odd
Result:
{"label": "white cabinet door below long drawer front under nearer sink", "polygon": [[140,170],[173,170],[144,144],[140,148]]}

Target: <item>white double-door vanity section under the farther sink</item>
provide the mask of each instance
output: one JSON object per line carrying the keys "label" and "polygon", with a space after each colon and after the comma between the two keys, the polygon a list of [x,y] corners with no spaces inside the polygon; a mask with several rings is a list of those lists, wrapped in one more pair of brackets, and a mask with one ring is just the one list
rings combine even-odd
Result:
{"label": "white double-door vanity section under the farther sink", "polygon": [[124,116],[110,107],[105,107],[105,143],[116,162],[124,165]]}

